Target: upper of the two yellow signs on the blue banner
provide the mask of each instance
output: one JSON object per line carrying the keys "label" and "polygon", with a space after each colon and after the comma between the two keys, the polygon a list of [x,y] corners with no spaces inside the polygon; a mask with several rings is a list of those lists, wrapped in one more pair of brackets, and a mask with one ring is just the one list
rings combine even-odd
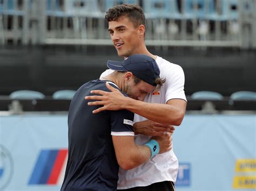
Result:
{"label": "upper of the two yellow signs on the blue banner", "polygon": [[239,159],[235,164],[235,172],[256,172],[256,159]]}

